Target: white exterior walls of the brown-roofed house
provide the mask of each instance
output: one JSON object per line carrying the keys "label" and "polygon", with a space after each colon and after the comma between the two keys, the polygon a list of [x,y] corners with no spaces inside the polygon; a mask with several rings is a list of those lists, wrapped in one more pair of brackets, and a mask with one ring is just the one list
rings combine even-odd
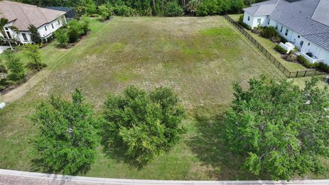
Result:
{"label": "white exterior walls of the brown-roofed house", "polygon": [[[60,23],[58,23],[58,20],[60,21]],[[64,21],[64,23],[63,23],[63,21]],[[53,24],[53,27],[51,26],[51,23]],[[48,36],[51,36],[51,34],[53,34],[53,32],[55,32],[57,29],[62,27],[63,24],[66,23],[65,16],[56,18],[56,20],[52,21],[51,23],[47,23],[45,25],[38,27],[38,32],[39,32],[41,38],[47,38]],[[12,22],[5,25],[5,27],[11,26],[11,25],[12,25]],[[47,27],[47,31],[46,31],[45,27]],[[16,33],[16,32],[13,32],[11,29],[9,29],[9,32],[10,32],[10,35],[12,36],[12,38],[16,38],[16,40],[18,40],[19,42],[21,42],[23,44],[32,43],[31,37],[29,36],[29,32],[27,32],[27,31],[21,31],[19,33]],[[24,40],[23,34],[26,35],[27,40]]]}

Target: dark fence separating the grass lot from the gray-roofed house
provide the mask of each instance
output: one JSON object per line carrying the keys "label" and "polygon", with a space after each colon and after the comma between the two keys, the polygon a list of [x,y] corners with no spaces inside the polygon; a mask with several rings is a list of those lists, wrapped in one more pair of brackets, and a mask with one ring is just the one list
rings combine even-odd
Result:
{"label": "dark fence separating the grass lot from the gray-roofed house", "polygon": [[247,31],[245,31],[245,28],[242,27],[241,25],[239,25],[239,23],[236,23],[236,21],[234,21],[230,16],[228,15],[224,15],[224,17],[226,19],[228,19],[228,21],[230,21],[230,23],[232,23],[237,29],[239,29],[239,31],[250,41],[252,42],[262,53],[264,53],[264,55],[271,61],[273,62],[273,64],[275,66],[278,67],[278,69],[280,71],[282,71],[282,73],[284,73],[284,75],[286,75],[289,78],[293,78],[293,77],[310,77],[310,76],[315,76],[315,75],[326,75],[326,73],[323,72],[319,72],[315,69],[308,69],[308,70],[304,70],[304,71],[289,71],[289,69],[287,69],[284,65],[282,65],[277,59],[276,57],[274,57],[271,53],[269,53],[269,51],[267,51],[267,49],[265,49],[265,47],[263,47],[262,45],[260,45],[260,43],[254,39],[254,37],[252,35],[250,35]]}

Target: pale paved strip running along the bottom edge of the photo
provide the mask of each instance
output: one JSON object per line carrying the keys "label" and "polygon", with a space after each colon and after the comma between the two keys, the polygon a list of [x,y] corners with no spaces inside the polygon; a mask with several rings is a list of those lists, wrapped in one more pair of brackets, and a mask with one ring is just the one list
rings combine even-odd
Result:
{"label": "pale paved strip running along the bottom edge of the photo", "polygon": [[96,177],[79,177],[79,176],[69,176],[69,175],[54,175],[46,173],[33,173],[25,171],[12,171],[0,169],[0,184],[1,185],[36,185],[36,184],[54,184],[54,185],[96,185],[96,184],[112,184],[112,185],[213,185],[213,184],[246,184],[246,185],[295,185],[295,184],[310,184],[310,185],[324,185],[329,184],[329,180],[301,180],[301,181],[291,181],[291,182],[273,182],[273,181],[165,181],[165,180],[119,180],[119,179],[106,179],[106,178],[96,178]]}

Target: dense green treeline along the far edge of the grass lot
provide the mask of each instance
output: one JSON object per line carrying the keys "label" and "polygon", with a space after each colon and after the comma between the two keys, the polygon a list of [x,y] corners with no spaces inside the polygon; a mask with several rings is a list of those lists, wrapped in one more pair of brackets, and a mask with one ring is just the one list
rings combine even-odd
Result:
{"label": "dense green treeline along the far edge of the grass lot", "polygon": [[78,13],[96,14],[107,5],[121,16],[195,16],[238,13],[251,3],[264,0],[17,0],[39,6],[73,6]]}

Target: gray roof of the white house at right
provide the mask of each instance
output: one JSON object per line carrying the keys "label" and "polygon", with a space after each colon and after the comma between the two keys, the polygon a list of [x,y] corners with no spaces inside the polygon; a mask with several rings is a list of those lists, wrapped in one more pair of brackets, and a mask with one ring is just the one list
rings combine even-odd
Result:
{"label": "gray roof of the white house at right", "polygon": [[[264,5],[274,8],[272,11],[258,10]],[[267,15],[321,47],[329,49],[329,0],[300,0],[295,2],[270,0],[256,3],[244,10],[254,16]]]}

